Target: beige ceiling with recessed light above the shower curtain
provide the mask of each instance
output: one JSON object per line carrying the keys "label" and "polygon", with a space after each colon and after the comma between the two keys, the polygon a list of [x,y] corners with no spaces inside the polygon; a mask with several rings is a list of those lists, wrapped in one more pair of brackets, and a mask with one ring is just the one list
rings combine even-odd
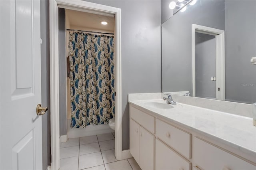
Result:
{"label": "beige ceiling with recessed light above the shower curtain", "polygon": [[[70,28],[92,28],[95,30],[106,30],[109,32],[114,32],[114,16],[103,16],[68,9],[66,9],[65,12],[66,20],[68,20]],[[102,21],[106,21],[108,24],[102,25]]]}

